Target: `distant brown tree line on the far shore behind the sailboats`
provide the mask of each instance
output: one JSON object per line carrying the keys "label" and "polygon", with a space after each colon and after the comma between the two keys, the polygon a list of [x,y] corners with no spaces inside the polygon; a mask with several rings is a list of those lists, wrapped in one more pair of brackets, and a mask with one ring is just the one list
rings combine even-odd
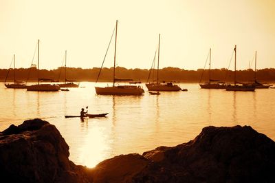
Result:
{"label": "distant brown tree line on the far shore behind the sailboats", "polygon": [[[67,67],[67,79],[77,81],[96,81],[100,68],[94,67],[92,69],[82,69]],[[13,69],[10,69],[8,75],[8,81],[13,80]],[[124,67],[115,67],[116,78],[131,78],[135,81],[146,82],[150,69],[126,69]],[[177,67],[165,67],[159,69],[159,80],[160,81],[178,81],[178,82],[191,82],[201,83],[208,80],[208,69],[197,69],[197,70],[185,70]],[[8,69],[0,69],[0,80],[5,80]],[[37,80],[37,69],[31,67],[30,69],[20,68],[15,69],[15,75],[17,80]],[[151,71],[151,78],[155,76],[156,79],[157,71],[153,69]],[[64,67],[58,67],[58,69],[41,69],[39,71],[39,78],[50,78],[52,80],[63,81],[65,79]],[[240,82],[249,82],[254,80],[254,70],[246,69],[239,70],[236,72],[236,78]],[[256,78],[263,82],[274,82],[275,81],[275,69],[259,69],[256,72]],[[113,79],[113,67],[102,68],[99,81],[112,81]],[[232,82],[234,80],[234,72],[225,68],[222,69],[211,69],[211,79],[221,80],[224,82]]]}

